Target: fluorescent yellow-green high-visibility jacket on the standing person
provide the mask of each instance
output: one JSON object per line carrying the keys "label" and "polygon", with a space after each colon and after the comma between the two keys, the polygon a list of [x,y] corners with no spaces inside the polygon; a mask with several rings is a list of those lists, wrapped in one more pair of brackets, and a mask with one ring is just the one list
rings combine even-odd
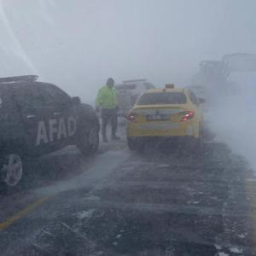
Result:
{"label": "fluorescent yellow-green high-visibility jacket on the standing person", "polygon": [[114,88],[103,86],[96,97],[96,107],[113,109],[118,107],[118,100]]}

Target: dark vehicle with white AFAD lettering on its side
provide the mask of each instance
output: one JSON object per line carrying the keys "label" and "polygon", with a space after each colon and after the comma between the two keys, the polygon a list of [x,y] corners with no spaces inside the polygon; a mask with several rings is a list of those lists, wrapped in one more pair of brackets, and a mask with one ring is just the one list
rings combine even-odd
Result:
{"label": "dark vehicle with white AFAD lettering on its side", "polygon": [[75,144],[95,154],[100,125],[95,110],[37,76],[0,79],[0,186],[20,183],[23,162]]}

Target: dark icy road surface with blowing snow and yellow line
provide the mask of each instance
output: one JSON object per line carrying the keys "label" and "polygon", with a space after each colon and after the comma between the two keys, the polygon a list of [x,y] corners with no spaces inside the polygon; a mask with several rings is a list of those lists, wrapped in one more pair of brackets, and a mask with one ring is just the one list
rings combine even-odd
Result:
{"label": "dark icy road surface with blowing snow and yellow line", "polygon": [[26,189],[0,197],[1,256],[253,255],[254,179],[223,143],[134,154],[122,140],[30,168]]}

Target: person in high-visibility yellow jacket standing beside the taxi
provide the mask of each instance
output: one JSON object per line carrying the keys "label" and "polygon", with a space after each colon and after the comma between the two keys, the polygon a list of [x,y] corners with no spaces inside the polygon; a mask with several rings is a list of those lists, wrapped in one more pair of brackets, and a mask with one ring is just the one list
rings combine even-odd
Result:
{"label": "person in high-visibility yellow jacket standing beside the taxi", "polygon": [[114,80],[108,79],[107,84],[103,86],[96,97],[96,111],[102,112],[102,138],[104,143],[108,143],[107,125],[111,122],[112,139],[119,140],[116,136],[117,131],[117,112],[119,110],[116,91],[113,88]]}

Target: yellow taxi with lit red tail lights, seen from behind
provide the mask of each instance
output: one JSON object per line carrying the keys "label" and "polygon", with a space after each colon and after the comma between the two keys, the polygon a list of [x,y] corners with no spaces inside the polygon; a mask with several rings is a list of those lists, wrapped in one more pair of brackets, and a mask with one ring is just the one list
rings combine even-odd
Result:
{"label": "yellow taxi with lit red tail lights, seen from behind", "polygon": [[147,138],[181,139],[201,145],[203,113],[199,99],[189,89],[166,84],[150,89],[137,99],[128,114],[127,143],[131,150],[143,145]]}

